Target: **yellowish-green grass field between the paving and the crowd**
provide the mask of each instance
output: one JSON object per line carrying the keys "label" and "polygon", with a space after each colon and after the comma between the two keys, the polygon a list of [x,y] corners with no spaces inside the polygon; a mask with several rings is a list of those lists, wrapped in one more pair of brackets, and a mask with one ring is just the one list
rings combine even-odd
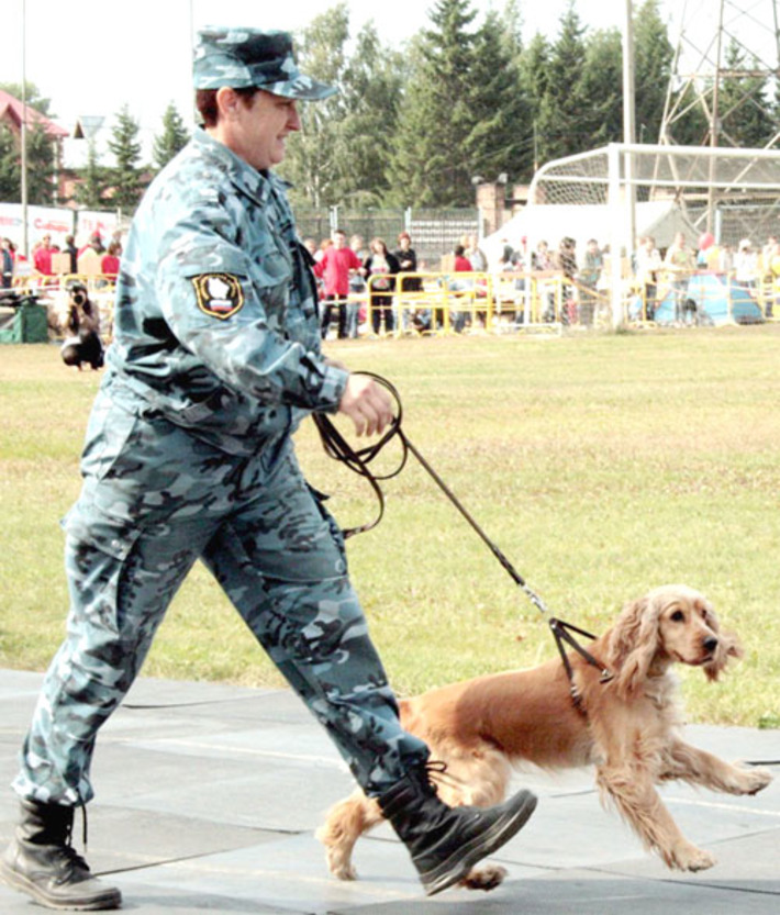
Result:
{"label": "yellowish-green grass field between the paving and the crowd", "polygon": [[[697,587],[746,657],[718,684],[683,672],[689,717],[780,726],[780,327],[350,341],[328,354],[393,381],[409,438],[556,615],[602,632],[657,584]],[[62,637],[58,520],[99,379],[67,370],[55,346],[0,348],[0,666],[43,669]],[[368,487],[313,428],[299,454],[342,524],[372,516]],[[400,693],[554,656],[542,615],[413,458],[385,490],[385,521],[349,542],[349,559]],[[144,672],[279,683],[200,567]]]}

